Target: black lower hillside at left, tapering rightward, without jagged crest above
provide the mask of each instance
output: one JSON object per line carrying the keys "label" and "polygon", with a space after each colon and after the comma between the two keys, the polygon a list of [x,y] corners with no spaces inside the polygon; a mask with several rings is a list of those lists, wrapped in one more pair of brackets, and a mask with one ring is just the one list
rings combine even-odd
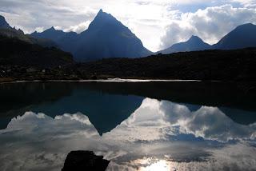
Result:
{"label": "black lower hillside at left, tapering rightward, without jagged crest above", "polygon": [[51,68],[73,63],[72,55],[62,50],[42,47],[1,34],[0,51],[0,64],[3,66]]}

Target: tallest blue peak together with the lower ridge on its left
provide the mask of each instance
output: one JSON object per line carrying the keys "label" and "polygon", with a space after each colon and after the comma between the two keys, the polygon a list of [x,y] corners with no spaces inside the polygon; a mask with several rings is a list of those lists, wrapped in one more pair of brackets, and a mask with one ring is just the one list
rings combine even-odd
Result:
{"label": "tallest blue peak together with the lower ridge on its left", "polygon": [[35,38],[50,38],[77,61],[95,61],[101,58],[139,58],[151,54],[126,26],[100,10],[87,30],[81,34],[65,33],[50,28],[31,34]]}

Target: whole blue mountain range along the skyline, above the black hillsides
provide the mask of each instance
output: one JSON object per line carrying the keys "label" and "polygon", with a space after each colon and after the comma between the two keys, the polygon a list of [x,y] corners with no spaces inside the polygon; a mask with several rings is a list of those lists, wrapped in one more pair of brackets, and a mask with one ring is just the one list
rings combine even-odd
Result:
{"label": "whole blue mountain range along the skyline, above the black hillsides", "polygon": [[[22,30],[10,27],[0,16],[0,35],[18,38],[40,46],[54,46],[70,52],[78,62],[96,61],[102,58],[140,58],[153,54],[142,41],[111,14],[98,12],[87,30],[81,34],[64,32],[51,27],[42,33],[24,34]],[[234,50],[256,46],[256,26],[245,24],[226,34],[217,44],[210,46],[201,38],[192,36],[186,42],[170,46],[156,54],[173,54],[198,50]]]}

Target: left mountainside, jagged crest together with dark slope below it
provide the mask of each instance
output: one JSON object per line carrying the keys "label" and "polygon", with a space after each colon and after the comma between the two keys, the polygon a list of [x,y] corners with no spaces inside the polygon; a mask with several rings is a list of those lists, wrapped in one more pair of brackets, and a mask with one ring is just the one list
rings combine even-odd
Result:
{"label": "left mountainside, jagged crest together with dark slope below it", "polygon": [[1,66],[39,66],[51,68],[73,63],[70,53],[54,48],[49,39],[34,38],[20,29],[10,27],[0,15]]}

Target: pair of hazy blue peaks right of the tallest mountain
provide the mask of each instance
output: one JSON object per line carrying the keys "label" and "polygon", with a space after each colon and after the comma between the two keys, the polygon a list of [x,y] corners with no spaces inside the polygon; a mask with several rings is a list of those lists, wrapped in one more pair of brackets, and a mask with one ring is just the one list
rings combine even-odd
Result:
{"label": "pair of hazy blue peaks right of the tallest mountain", "polygon": [[186,42],[180,42],[156,54],[173,54],[176,52],[188,52],[198,50],[235,50],[256,46],[256,25],[251,23],[238,26],[229,34],[226,34],[217,44],[210,46],[201,38],[192,36]]}

